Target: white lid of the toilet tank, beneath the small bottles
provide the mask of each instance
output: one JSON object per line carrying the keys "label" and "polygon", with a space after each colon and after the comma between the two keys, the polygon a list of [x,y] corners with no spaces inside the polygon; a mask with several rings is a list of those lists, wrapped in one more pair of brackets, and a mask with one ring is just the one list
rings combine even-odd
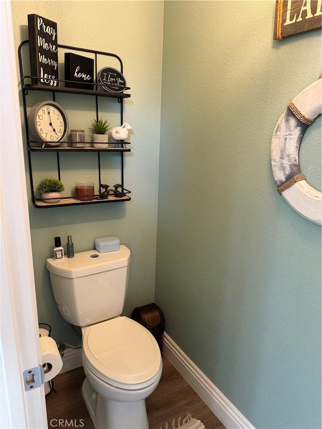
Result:
{"label": "white lid of the toilet tank, beneath the small bottles", "polygon": [[130,264],[130,259],[130,250],[121,244],[119,250],[112,252],[100,253],[97,250],[87,250],[75,253],[74,258],[66,258],[65,256],[62,261],[48,258],[46,268],[50,273],[57,276],[73,279],[127,267]]}

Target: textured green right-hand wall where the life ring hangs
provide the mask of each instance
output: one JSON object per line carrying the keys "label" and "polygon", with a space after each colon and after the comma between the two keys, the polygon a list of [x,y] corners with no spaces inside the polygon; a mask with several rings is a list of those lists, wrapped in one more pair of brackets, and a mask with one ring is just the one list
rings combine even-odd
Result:
{"label": "textured green right-hand wall where the life ring hangs", "polygon": [[[321,228],[278,195],[270,144],[321,39],[273,41],[274,9],[165,2],[155,300],[255,427],[319,428]],[[320,126],[300,153],[318,189]]]}

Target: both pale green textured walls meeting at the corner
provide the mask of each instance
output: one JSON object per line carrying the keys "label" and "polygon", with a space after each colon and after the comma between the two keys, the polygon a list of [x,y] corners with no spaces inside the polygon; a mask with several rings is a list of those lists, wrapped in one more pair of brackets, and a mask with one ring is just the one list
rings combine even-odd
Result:
{"label": "both pale green textured walls meeting at the corner", "polygon": [[[124,116],[133,126],[133,151],[125,156],[132,201],[30,206],[37,305],[57,341],[77,342],[45,269],[53,237],[65,243],[71,234],[83,251],[96,237],[116,235],[132,252],[125,314],[155,298],[170,336],[258,429],[315,429],[321,232],[277,194],[270,144],[288,100],[321,71],[320,32],[273,41],[274,7],[12,2],[16,47],[28,37],[29,13],[48,17],[57,22],[59,43],[120,55],[132,95]],[[70,124],[89,135],[92,102],[59,102]],[[116,120],[113,104],[103,108]],[[318,189],[320,127],[320,119],[309,127],[300,152],[302,171]],[[93,160],[81,155],[64,161],[68,190],[92,174]],[[48,165],[47,155],[36,160],[39,179]]]}

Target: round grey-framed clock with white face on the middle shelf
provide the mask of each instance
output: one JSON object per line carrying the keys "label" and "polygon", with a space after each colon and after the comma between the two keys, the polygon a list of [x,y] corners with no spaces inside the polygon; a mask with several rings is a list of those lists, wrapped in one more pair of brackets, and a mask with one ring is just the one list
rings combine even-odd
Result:
{"label": "round grey-framed clock with white face on the middle shelf", "polygon": [[28,123],[31,135],[36,141],[56,146],[67,136],[67,115],[54,101],[35,104],[29,113]]}

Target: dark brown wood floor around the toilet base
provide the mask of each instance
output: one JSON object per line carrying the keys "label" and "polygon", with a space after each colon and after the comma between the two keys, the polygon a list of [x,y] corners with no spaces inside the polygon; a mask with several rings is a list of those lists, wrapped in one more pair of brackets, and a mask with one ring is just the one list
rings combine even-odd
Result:
{"label": "dark brown wood floor around the toilet base", "polygon": [[[83,368],[77,368],[55,377],[57,393],[46,396],[48,427],[58,427],[59,419],[73,420],[73,427],[94,429],[93,422],[82,397]],[[200,399],[170,361],[163,357],[163,373],[155,391],[146,399],[150,429],[171,428],[173,418],[190,412],[201,420],[207,429],[225,429],[223,424]],[[82,419],[82,420],[81,420]]]}

